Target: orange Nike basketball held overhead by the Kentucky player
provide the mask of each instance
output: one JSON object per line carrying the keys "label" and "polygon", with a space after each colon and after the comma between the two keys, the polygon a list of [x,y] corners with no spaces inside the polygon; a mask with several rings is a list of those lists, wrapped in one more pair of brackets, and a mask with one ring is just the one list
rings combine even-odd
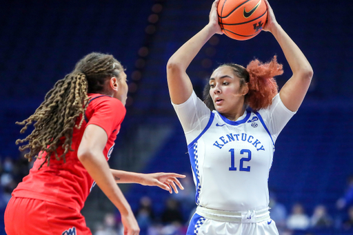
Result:
{"label": "orange Nike basketball held overhead by the Kentucky player", "polygon": [[264,0],[221,0],[217,12],[223,33],[240,41],[259,34],[268,19]]}

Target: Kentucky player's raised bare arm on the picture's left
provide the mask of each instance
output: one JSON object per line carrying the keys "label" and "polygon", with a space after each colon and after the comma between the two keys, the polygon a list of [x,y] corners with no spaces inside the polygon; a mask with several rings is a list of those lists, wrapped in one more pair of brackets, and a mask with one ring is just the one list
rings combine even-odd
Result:
{"label": "Kentucky player's raised bare arm on the picture's left", "polygon": [[214,1],[210,11],[210,22],[194,37],[170,57],[167,64],[167,80],[170,98],[175,104],[184,103],[192,94],[192,83],[186,69],[191,61],[199,53],[203,45],[214,34],[222,34],[218,23],[217,5],[219,0]]}

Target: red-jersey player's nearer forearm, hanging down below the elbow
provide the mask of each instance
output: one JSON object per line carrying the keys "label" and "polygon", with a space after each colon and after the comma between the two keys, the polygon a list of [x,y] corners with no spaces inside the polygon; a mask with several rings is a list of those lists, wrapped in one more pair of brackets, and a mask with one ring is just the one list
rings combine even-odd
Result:
{"label": "red-jersey player's nearer forearm, hanging down below the elbow", "polygon": [[132,213],[128,201],[126,201],[125,196],[123,196],[123,193],[112,177],[108,162],[105,160],[103,153],[86,153],[80,156],[79,160],[119,212],[122,215]]}

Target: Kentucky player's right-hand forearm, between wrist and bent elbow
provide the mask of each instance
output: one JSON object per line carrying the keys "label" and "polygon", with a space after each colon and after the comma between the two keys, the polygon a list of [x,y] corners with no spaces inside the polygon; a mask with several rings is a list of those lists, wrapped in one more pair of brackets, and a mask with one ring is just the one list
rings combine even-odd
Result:
{"label": "Kentucky player's right-hand forearm, between wrist and bent elbow", "polygon": [[294,41],[288,36],[283,30],[281,25],[278,23],[276,27],[272,29],[272,34],[281,46],[285,58],[287,59],[293,74],[302,74],[301,78],[312,77],[312,66],[307,61],[305,55]]}

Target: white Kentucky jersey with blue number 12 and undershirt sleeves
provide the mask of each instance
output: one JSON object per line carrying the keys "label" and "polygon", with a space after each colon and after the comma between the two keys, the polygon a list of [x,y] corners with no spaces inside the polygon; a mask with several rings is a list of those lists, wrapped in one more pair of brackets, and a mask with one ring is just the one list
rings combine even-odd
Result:
{"label": "white Kentucky jersey with blue number 12 and undershirt sleeves", "polygon": [[196,204],[214,210],[268,207],[268,176],[279,132],[294,115],[279,94],[259,112],[248,109],[230,121],[192,92],[174,105],[188,142]]}

